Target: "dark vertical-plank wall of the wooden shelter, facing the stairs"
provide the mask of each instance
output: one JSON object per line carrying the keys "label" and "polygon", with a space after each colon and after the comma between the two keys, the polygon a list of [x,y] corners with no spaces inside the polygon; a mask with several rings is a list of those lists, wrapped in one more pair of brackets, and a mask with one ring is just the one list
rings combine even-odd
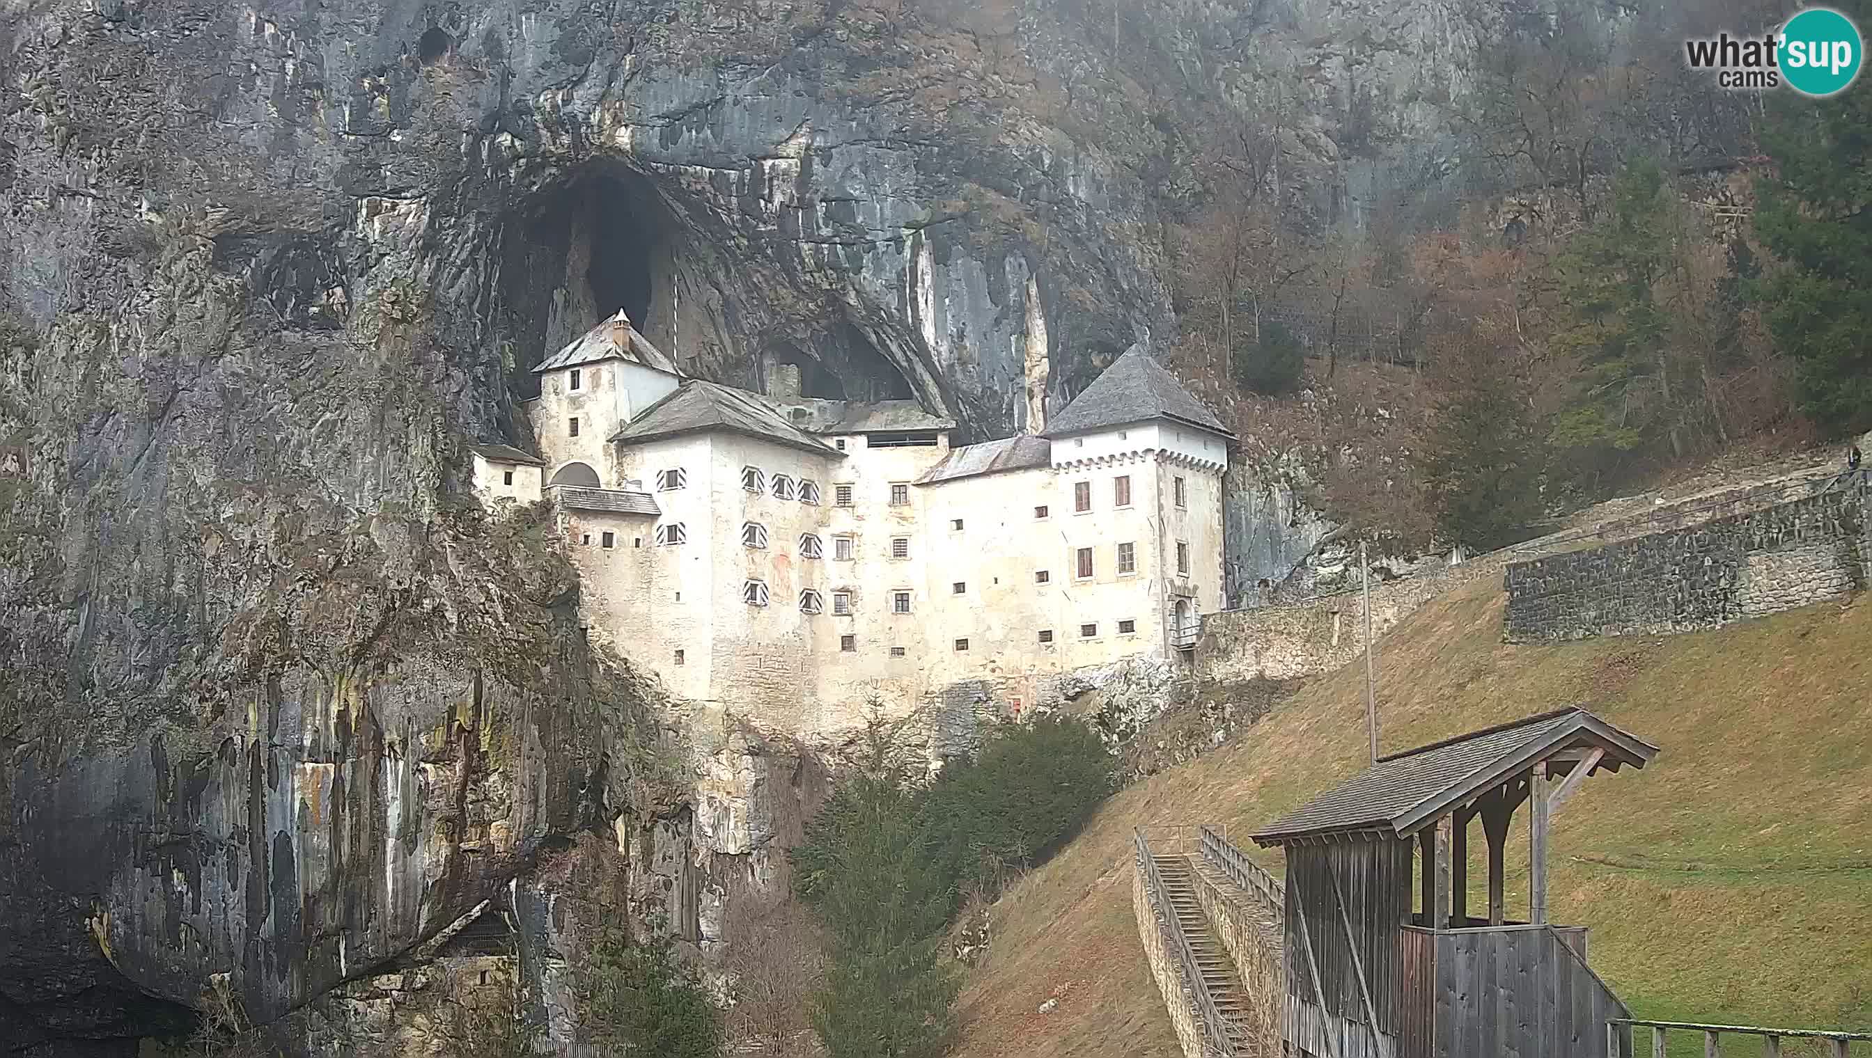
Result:
{"label": "dark vertical-plank wall of the wooden shelter, facing the stairs", "polygon": [[[1325,1000],[1324,1013],[1359,1024],[1370,1021],[1365,992],[1359,989],[1359,968],[1363,968],[1378,1013],[1376,1028],[1387,1036],[1395,1034],[1402,985],[1398,936],[1410,921],[1410,841],[1290,846],[1284,936],[1290,1000],[1318,1006],[1312,992],[1312,966],[1307,962],[1307,940],[1312,940],[1320,992]],[[1305,933],[1299,929],[1301,914],[1307,921]]]}

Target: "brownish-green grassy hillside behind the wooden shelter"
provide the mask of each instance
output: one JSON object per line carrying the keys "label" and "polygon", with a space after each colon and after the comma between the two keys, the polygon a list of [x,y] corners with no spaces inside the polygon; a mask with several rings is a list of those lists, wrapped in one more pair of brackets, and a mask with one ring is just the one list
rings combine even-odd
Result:
{"label": "brownish-green grassy hillside behind the wooden shelter", "polygon": [[[1556,816],[1554,921],[1591,927],[1593,966],[1640,1017],[1872,1028],[1872,599],[1556,646],[1503,644],[1501,607],[1498,580],[1471,584],[1382,640],[1383,749],[1565,704],[1660,745]],[[1206,820],[1245,835],[1353,773],[1363,680],[1359,667],[1324,678],[1236,743],[1121,792],[1015,886],[962,992],[958,1052],[1176,1054],[1131,918],[1131,830]],[[1479,828],[1470,848],[1470,906],[1486,906]],[[1265,861],[1279,871],[1279,854]],[[1526,882],[1518,830],[1511,914]],[[1037,1013],[1050,996],[1060,1006]]]}

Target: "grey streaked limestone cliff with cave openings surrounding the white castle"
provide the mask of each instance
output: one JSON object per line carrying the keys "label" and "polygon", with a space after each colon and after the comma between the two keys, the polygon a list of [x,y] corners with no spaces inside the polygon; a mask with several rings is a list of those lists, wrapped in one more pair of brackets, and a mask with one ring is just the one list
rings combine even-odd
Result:
{"label": "grey streaked limestone cliff with cave openings surrounding the white castle", "polygon": [[1022,429],[1039,367],[1058,406],[1170,333],[1191,101],[1292,94],[1290,187],[1357,223],[1451,178],[1468,7],[7,6],[0,1039],[127,1052],[217,979],[281,1017],[657,811],[653,689],[455,500],[560,341],[625,307]]}

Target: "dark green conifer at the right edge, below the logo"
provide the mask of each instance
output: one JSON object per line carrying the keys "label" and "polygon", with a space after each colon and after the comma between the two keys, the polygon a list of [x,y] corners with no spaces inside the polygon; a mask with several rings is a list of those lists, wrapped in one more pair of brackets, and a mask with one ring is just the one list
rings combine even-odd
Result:
{"label": "dark green conifer at the right edge, below the logo", "polygon": [[[1872,24],[1866,0],[1838,6]],[[1799,367],[1801,404],[1827,433],[1872,427],[1872,92],[1775,97],[1754,230],[1788,268],[1762,285],[1769,331]]]}

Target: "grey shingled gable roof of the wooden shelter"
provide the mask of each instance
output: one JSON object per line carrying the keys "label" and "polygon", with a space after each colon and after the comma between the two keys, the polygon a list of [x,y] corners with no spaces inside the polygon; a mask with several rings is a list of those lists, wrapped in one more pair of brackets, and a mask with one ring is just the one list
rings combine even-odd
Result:
{"label": "grey shingled gable roof of the wooden shelter", "polygon": [[1391,757],[1252,833],[1256,845],[1320,837],[1406,837],[1539,760],[1604,749],[1597,770],[1644,768],[1657,747],[1571,708],[1475,730]]}

